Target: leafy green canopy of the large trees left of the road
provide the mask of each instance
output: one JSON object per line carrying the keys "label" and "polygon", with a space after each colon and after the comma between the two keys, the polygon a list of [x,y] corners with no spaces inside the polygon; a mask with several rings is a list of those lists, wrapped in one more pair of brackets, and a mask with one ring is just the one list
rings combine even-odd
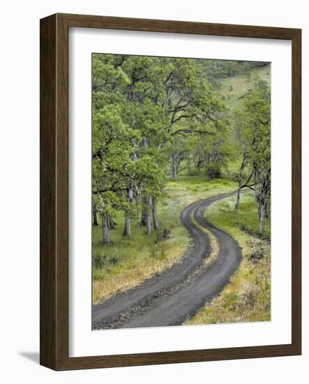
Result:
{"label": "leafy green canopy of the large trees left of the road", "polygon": [[223,149],[225,105],[196,60],[110,54],[92,59],[93,207],[133,217],[147,196],[160,198],[167,163],[177,177],[199,138],[217,135],[216,150]]}

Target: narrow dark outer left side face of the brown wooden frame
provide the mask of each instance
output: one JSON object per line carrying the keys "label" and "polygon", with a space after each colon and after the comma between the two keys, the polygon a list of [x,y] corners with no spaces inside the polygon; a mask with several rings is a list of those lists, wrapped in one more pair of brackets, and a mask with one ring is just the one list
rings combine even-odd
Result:
{"label": "narrow dark outer left side face of the brown wooden frame", "polygon": [[40,364],[56,356],[56,16],[40,22]]}

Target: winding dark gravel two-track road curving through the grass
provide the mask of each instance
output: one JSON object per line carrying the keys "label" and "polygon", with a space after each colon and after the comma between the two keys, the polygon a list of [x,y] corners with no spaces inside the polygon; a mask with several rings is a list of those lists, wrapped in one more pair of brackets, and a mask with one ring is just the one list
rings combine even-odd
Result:
{"label": "winding dark gravel two-track road curving through the grass", "polygon": [[[204,211],[233,194],[193,202],[183,209],[181,221],[192,237],[192,245],[181,262],[94,306],[93,330],[181,325],[218,295],[239,267],[241,249],[231,236],[206,221]],[[210,255],[209,236],[191,221],[193,212],[195,220],[210,230],[219,244],[218,257],[204,269],[203,260]]]}

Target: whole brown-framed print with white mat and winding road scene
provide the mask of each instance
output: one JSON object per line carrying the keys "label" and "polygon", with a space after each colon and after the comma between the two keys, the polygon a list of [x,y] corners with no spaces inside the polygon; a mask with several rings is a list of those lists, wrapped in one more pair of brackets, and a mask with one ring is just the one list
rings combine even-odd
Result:
{"label": "whole brown-framed print with white mat and winding road scene", "polygon": [[40,363],[301,354],[301,30],[40,21]]}

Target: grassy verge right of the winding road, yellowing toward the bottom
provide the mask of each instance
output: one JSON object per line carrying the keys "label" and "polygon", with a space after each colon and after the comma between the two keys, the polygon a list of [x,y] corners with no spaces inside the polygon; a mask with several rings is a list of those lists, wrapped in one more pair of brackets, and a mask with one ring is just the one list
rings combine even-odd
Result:
{"label": "grassy verge right of the winding road, yellowing toward the bottom", "polygon": [[270,219],[265,237],[257,236],[258,220],[253,194],[241,196],[239,214],[234,198],[213,203],[206,217],[228,232],[242,248],[241,265],[223,292],[206,304],[186,325],[271,320]]}

